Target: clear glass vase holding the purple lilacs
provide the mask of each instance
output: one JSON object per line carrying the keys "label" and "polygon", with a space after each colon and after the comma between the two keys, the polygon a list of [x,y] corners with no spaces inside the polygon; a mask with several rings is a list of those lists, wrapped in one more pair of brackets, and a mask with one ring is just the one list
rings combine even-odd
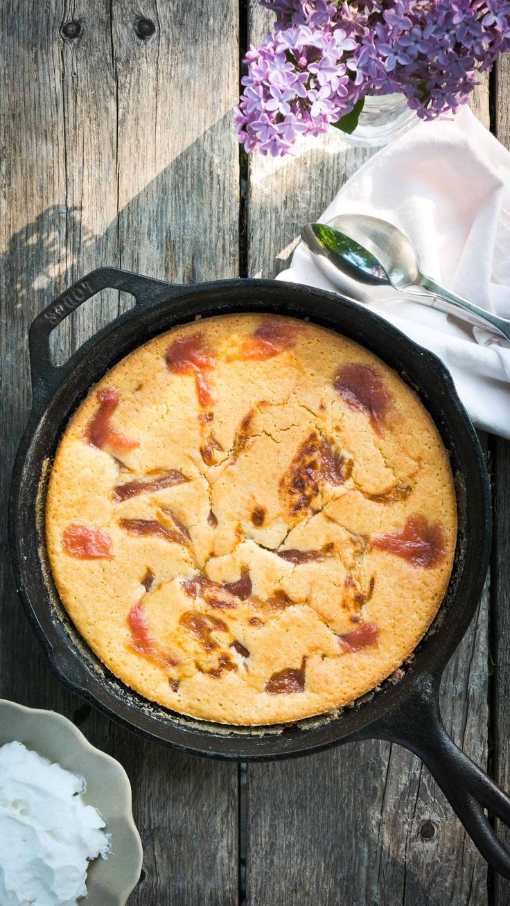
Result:
{"label": "clear glass vase holding the purple lilacs", "polygon": [[353,145],[378,148],[399,139],[418,122],[403,94],[368,94],[356,129],[351,135],[343,133],[343,137]]}

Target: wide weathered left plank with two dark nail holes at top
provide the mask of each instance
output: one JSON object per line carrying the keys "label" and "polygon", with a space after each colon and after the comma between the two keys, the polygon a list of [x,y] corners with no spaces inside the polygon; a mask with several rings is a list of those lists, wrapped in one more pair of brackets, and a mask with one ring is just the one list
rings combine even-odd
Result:
{"label": "wide weathered left plank with two dark nail holes at top", "polygon": [[[27,326],[55,293],[100,264],[174,280],[237,274],[237,3],[153,0],[143,16],[140,28],[129,0],[0,10],[3,505],[30,399]],[[70,20],[80,28],[63,39]],[[83,306],[56,356],[126,304],[103,293]],[[141,742],[65,693],[21,612],[5,545],[2,569],[0,694],[74,717],[125,764],[145,848],[130,903],[236,903],[237,767]]]}

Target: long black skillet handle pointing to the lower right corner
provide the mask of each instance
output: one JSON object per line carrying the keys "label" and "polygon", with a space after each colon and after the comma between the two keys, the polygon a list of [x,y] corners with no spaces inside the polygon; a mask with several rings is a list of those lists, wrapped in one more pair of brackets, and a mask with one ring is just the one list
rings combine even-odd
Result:
{"label": "long black skillet handle pointing to the lower right corner", "polygon": [[484,811],[510,827],[510,798],[448,736],[439,710],[439,683],[440,675],[418,682],[399,711],[378,724],[374,735],[397,742],[421,758],[486,862],[510,878],[510,852]]}

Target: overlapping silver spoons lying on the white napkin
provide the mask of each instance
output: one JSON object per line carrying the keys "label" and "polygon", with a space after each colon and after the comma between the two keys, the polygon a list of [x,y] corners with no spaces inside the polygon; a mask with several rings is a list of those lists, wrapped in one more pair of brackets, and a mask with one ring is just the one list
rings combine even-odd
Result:
{"label": "overlapping silver spoons lying on the white napkin", "polygon": [[[311,252],[319,256],[322,269],[330,278],[336,269],[351,280],[374,288],[393,287],[415,302],[454,314],[510,340],[510,321],[451,293],[422,274],[409,236],[386,220],[362,214],[342,214],[333,217],[328,224],[306,224],[301,237]],[[412,289],[418,286],[426,292]]]}

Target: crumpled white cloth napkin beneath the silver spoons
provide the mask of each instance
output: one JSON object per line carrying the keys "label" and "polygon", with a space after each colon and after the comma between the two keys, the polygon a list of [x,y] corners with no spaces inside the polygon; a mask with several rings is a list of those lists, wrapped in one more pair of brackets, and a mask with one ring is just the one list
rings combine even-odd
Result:
{"label": "crumpled white cloth napkin beneath the silver spoons", "polygon": [[[378,151],[322,217],[359,212],[404,229],[425,274],[510,318],[510,153],[463,108]],[[280,279],[337,287],[301,243]],[[445,362],[478,428],[510,438],[510,343],[415,302],[370,304]]]}

